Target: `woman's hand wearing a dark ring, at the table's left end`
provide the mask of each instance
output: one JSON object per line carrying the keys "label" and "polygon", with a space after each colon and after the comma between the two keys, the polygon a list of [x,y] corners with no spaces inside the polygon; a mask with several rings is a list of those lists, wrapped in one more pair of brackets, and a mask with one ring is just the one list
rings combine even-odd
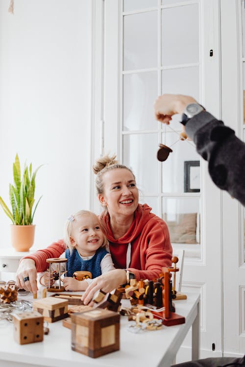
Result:
{"label": "woman's hand wearing a dark ring, at the table's left end", "polygon": [[[28,277],[29,280],[24,282],[24,278]],[[18,288],[25,289],[26,291],[37,293],[37,269],[35,261],[32,259],[23,259],[20,262],[19,268],[16,272],[16,285]]]}

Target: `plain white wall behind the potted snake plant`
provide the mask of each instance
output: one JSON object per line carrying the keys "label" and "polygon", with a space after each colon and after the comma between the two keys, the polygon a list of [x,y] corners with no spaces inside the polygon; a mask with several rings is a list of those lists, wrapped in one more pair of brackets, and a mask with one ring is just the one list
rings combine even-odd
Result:
{"label": "plain white wall behind the potted snake plant", "polygon": [[[8,201],[18,152],[37,174],[35,248],[62,238],[89,207],[91,1],[0,0],[0,196]],[[0,208],[0,247],[10,246]]]}

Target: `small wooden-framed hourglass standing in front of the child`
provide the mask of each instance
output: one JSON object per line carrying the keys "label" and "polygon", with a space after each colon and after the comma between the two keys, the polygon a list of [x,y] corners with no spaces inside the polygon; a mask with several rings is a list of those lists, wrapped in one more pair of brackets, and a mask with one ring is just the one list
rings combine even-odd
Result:
{"label": "small wooden-framed hourglass standing in front of the child", "polygon": [[[49,285],[47,287],[47,291],[48,292],[64,292],[65,287],[61,285],[61,282],[63,282],[63,280],[61,279],[61,276],[67,273],[67,270],[66,270],[67,259],[62,258],[62,257],[58,257],[58,258],[52,257],[52,258],[47,259],[46,261],[49,264],[49,269],[48,269]],[[52,270],[52,264],[56,264],[55,270]],[[60,267],[61,264],[63,264],[63,269],[65,269],[62,272],[61,272],[61,267]],[[58,281],[58,285],[57,285],[57,281]]]}

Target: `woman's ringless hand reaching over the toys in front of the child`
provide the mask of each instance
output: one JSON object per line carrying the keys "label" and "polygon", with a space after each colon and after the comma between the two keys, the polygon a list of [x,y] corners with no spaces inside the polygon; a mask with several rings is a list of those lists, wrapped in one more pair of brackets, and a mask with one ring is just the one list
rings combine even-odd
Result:
{"label": "woman's ringless hand reaching over the toys in front of the child", "polygon": [[126,283],[125,270],[111,270],[110,272],[102,274],[93,280],[93,282],[88,286],[86,292],[82,295],[82,301],[84,304],[88,304],[99,289],[108,293],[124,283]]}

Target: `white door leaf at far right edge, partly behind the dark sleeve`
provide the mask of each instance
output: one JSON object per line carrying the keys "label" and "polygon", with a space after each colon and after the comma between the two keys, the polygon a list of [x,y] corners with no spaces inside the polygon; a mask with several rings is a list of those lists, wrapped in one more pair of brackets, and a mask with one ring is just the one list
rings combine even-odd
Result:
{"label": "white door leaf at far right edge, partly behind the dark sleeve", "polygon": [[[221,1],[222,119],[245,139],[245,1]],[[241,167],[241,169],[245,169]],[[223,194],[223,351],[245,354],[245,212]]]}

